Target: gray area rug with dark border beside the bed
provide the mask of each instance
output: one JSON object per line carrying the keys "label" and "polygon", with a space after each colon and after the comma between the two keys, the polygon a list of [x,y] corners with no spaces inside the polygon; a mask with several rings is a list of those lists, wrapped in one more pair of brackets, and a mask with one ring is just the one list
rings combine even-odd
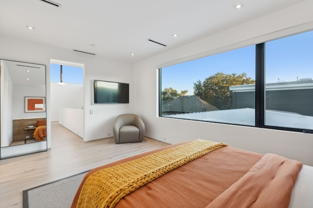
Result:
{"label": "gray area rug with dark border beside the bed", "polygon": [[23,190],[23,208],[69,208],[87,172]]}

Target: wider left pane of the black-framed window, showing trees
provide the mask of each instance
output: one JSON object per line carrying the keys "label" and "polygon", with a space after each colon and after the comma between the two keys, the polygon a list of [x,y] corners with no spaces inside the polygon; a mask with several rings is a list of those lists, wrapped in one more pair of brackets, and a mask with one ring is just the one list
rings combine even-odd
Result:
{"label": "wider left pane of the black-framed window, showing trees", "polygon": [[255,125],[254,45],[160,70],[161,116]]}

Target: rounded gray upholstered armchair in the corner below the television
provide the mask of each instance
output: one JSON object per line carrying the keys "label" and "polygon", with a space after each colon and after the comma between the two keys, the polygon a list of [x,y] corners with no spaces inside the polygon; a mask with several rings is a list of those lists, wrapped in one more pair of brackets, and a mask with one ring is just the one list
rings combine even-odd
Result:
{"label": "rounded gray upholstered armchair in the corner below the television", "polygon": [[141,118],[132,113],[118,115],[113,126],[115,143],[142,142],[145,125]]}

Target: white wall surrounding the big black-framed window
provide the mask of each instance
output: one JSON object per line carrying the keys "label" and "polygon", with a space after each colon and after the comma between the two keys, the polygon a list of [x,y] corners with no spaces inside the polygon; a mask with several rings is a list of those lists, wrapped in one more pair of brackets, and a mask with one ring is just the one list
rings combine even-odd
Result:
{"label": "white wall surrounding the big black-framed window", "polygon": [[142,117],[145,135],[160,141],[166,138],[171,144],[197,138],[226,142],[231,147],[272,152],[313,166],[313,134],[158,117],[156,72],[157,66],[169,65],[168,62],[208,56],[313,29],[312,8],[313,1],[307,0],[135,63],[134,113]]}

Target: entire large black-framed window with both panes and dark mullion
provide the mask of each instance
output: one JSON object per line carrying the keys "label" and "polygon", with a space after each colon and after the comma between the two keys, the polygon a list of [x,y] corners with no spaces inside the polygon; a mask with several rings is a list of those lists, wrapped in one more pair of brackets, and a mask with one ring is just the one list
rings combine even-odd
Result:
{"label": "entire large black-framed window with both panes and dark mullion", "polygon": [[159,69],[159,116],[313,130],[313,31]]}

